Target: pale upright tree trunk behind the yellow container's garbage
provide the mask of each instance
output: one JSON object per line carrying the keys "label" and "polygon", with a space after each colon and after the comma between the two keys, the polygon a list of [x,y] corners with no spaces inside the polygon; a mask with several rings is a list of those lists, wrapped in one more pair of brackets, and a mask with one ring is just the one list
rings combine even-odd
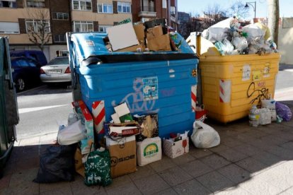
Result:
{"label": "pale upright tree trunk behind the yellow container's garbage", "polygon": [[277,44],[279,35],[279,0],[268,0],[268,28],[270,29],[271,39]]}

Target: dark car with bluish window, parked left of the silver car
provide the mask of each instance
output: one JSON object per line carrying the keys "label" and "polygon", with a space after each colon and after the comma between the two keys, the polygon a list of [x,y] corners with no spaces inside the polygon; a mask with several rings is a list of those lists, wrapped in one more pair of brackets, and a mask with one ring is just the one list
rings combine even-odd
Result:
{"label": "dark car with bluish window, parked left of the silver car", "polygon": [[16,91],[25,90],[28,85],[40,83],[40,66],[37,61],[26,57],[11,57],[13,82]]}

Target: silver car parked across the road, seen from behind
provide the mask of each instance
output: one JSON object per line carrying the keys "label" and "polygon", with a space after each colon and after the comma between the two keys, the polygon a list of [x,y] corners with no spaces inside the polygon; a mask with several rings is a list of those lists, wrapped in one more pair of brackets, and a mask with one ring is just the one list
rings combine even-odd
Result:
{"label": "silver car parked across the road, seen from behind", "polygon": [[68,57],[55,57],[40,68],[40,80],[44,83],[71,82]]}

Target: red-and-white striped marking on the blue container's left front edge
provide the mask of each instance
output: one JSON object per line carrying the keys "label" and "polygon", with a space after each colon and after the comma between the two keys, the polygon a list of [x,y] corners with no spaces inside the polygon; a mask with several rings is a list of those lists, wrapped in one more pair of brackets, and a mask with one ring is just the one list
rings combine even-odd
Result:
{"label": "red-and-white striped marking on the blue container's left front edge", "polygon": [[105,102],[96,101],[92,105],[93,113],[93,125],[95,126],[97,134],[104,134],[104,122],[105,122]]}

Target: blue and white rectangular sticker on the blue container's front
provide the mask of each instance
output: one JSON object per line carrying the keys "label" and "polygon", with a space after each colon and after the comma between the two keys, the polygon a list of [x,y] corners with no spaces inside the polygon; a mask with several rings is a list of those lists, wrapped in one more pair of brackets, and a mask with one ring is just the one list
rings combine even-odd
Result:
{"label": "blue and white rectangular sticker on the blue container's front", "polygon": [[144,100],[156,100],[158,95],[158,77],[142,78]]}

